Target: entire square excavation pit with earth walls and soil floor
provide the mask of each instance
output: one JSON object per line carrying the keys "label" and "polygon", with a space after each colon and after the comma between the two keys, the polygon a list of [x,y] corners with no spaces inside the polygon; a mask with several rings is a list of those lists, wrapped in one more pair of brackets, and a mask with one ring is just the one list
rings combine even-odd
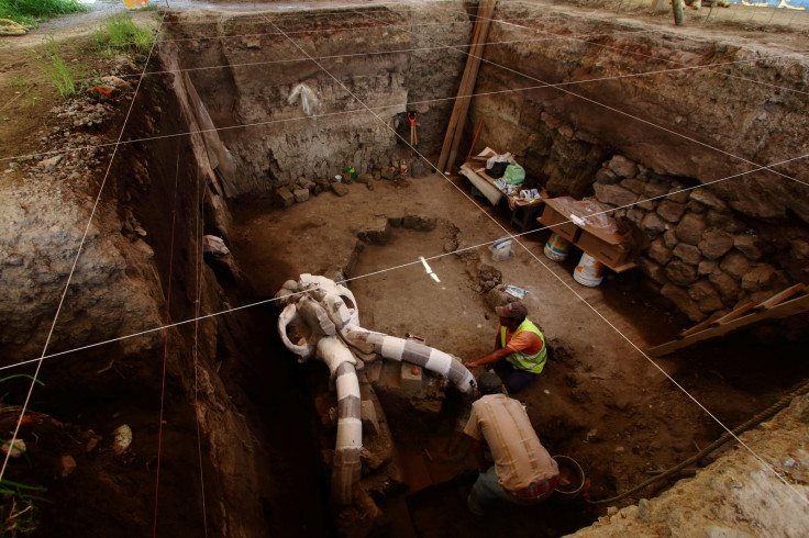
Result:
{"label": "entire square excavation pit with earth walls and soil floor", "polygon": [[[674,498],[699,523],[655,527],[654,516],[627,533],[701,533],[703,515],[761,530],[744,512],[762,501],[747,486],[758,484],[757,463],[731,445],[681,470],[673,479],[696,477],[676,487],[661,481],[608,505],[587,501],[687,460],[723,431],[716,419],[741,424],[809,373],[806,315],[654,361],[643,355],[746,302],[768,312],[768,298],[809,281],[807,66],[790,48],[802,34],[749,35],[724,18],[707,30],[711,41],[640,12],[629,23],[545,8],[499,3],[496,16],[508,23],[492,24],[448,175],[433,170],[474,26],[474,8],[459,3],[171,11],[131,111],[123,96],[91,92],[47,116],[46,132],[38,120],[14,131],[46,109],[9,103],[4,148],[66,153],[15,162],[0,182],[10,223],[0,248],[3,365],[38,357],[51,337],[104,186],[43,362],[45,386],[20,429],[34,470],[22,460],[9,468],[10,480],[57,500],[37,506],[43,536],[143,536],[153,525],[223,536],[557,536],[605,516],[634,523],[641,509],[631,505],[642,498],[651,500],[643,514],[666,514]],[[21,51],[0,76],[24,69]],[[592,195],[632,223],[650,243],[638,267],[579,285],[576,246],[548,260],[551,229],[522,234],[530,227],[512,224],[512,210],[473,198],[454,173],[485,146],[513,152],[552,197]],[[492,259],[488,247],[508,234],[512,255]],[[230,254],[203,253],[214,239]],[[298,365],[276,330],[273,296],[302,273],[345,280],[366,328],[417,335],[465,360],[491,349],[502,299],[492,289],[527,291],[550,357],[517,397],[551,452],[580,463],[587,491],[474,520],[458,495],[474,480],[468,450],[444,453],[462,414],[457,394],[380,360],[363,371],[376,371],[363,392],[365,487],[354,504],[335,504],[329,372]],[[22,381],[7,381],[7,411],[25,401]],[[12,415],[2,421],[9,437]],[[805,424],[773,419],[751,433],[793,485],[809,468],[795,442]],[[122,425],[132,442],[118,451]],[[377,446],[386,431],[387,449]],[[385,450],[390,461],[378,457]],[[706,467],[720,456],[738,481]],[[783,494],[783,484],[767,484]],[[744,497],[731,504],[746,518],[728,512],[730,496]],[[806,515],[800,506],[790,514],[773,519]],[[761,520],[775,535],[806,534]]]}

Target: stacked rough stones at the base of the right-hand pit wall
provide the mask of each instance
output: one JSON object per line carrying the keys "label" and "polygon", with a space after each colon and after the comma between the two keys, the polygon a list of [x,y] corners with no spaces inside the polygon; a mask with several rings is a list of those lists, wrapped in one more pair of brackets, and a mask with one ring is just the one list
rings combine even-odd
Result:
{"label": "stacked rough stones at the base of the right-hand pit wall", "polygon": [[809,277],[806,226],[774,225],[733,211],[710,186],[688,187],[617,155],[605,161],[592,187],[603,206],[621,208],[613,215],[649,236],[651,245],[638,260],[641,271],[695,322],[763,301]]}

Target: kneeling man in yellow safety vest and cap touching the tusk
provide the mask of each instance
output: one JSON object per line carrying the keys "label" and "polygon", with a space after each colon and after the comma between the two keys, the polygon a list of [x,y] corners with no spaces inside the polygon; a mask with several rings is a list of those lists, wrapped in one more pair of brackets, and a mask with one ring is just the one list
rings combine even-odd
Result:
{"label": "kneeling man in yellow safety vest and cap touching the tusk", "polygon": [[479,366],[494,366],[496,371],[506,371],[506,389],[516,394],[536,379],[547,359],[545,337],[527,316],[528,309],[520,302],[495,309],[500,318],[495,350],[469,362],[474,370]]}

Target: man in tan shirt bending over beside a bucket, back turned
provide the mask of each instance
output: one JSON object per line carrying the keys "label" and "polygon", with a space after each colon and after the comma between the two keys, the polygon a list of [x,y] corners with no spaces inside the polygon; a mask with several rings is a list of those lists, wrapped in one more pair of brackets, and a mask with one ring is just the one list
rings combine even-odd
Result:
{"label": "man in tan shirt bending over beside a bucket, back turned", "polygon": [[[473,438],[480,474],[466,500],[469,511],[483,516],[492,501],[534,505],[551,496],[559,469],[540,442],[522,404],[502,393],[495,372],[478,379],[480,399],[472,404],[464,434]],[[483,441],[489,446],[494,467],[484,458]]]}

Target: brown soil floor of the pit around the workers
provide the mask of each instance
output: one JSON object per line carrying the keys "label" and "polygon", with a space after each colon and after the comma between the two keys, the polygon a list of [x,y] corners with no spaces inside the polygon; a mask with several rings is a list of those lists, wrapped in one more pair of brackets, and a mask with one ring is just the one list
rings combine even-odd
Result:
{"label": "brown soil floor of the pit around the workers", "polygon": [[[638,274],[608,274],[597,288],[583,287],[572,277],[576,254],[562,264],[542,254],[546,229],[519,236],[510,259],[492,261],[488,244],[521,232],[509,223],[505,203],[492,208],[472,200],[465,178],[432,175],[372,186],[368,190],[354,183],[343,198],[325,192],[288,209],[273,208],[269,198],[234,204],[233,250],[256,299],[271,296],[284,281],[303,272],[336,278],[351,265],[357,234],[380,217],[437,218],[433,231],[395,228],[387,245],[363,244],[347,274],[361,323],[392,336],[418,335],[430,346],[472,360],[491,349],[497,328],[476,278],[481,265],[499,270],[503,283],[528,290],[523,302],[551,355],[544,372],[517,397],[548,450],[584,468],[590,500],[621,493],[690,457],[721,435],[717,419],[732,428],[807,374],[806,365],[795,360],[799,348],[766,349],[744,337],[651,360],[643,350],[688,324],[649,295]],[[446,254],[454,243],[459,253]],[[766,380],[760,376],[762,354],[775,366]],[[472,536],[492,530],[480,526],[457,495],[447,494],[474,470],[465,446],[455,457],[444,451],[453,418],[437,425],[407,421],[397,428],[396,418],[388,417],[397,447],[419,460],[414,467],[421,471],[412,477],[418,485],[404,495],[412,533],[419,536],[448,535],[458,525]],[[423,456],[423,449],[431,456]],[[431,480],[418,477],[423,469]],[[638,502],[664,486],[650,486],[617,504]],[[587,525],[598,515],[584,500],[573,503],[573,517],[551,517],[566,514],[557,502],[521,517],[501,513],[492,528],[508,522],[516,536],[555,536],[575,530],[572,519]],[[410,536],[406,525],[395,528]]]}

